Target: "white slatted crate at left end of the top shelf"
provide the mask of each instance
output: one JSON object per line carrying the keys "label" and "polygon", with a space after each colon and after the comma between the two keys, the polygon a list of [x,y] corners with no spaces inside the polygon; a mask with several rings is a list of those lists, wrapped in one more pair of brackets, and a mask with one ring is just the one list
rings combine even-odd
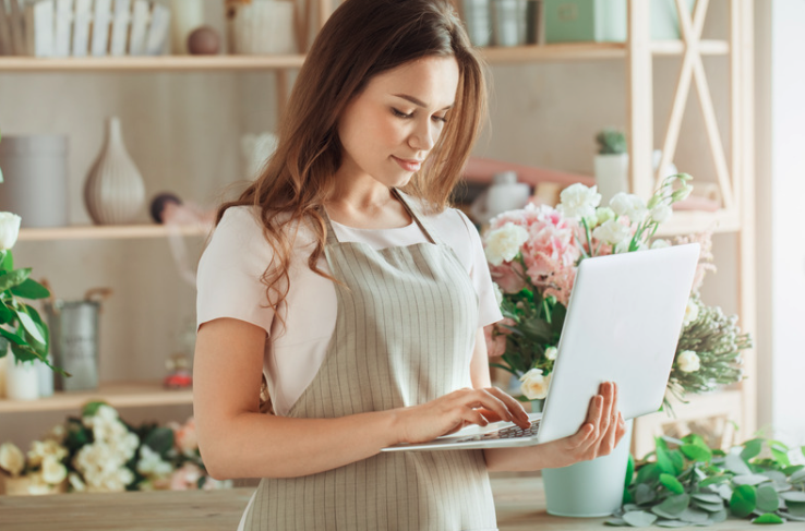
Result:
{"label": "white slatted crate at left end of the top shelf", "polygon": [[158,56],[170,10],[156,0],[0,0],[0,56]]}

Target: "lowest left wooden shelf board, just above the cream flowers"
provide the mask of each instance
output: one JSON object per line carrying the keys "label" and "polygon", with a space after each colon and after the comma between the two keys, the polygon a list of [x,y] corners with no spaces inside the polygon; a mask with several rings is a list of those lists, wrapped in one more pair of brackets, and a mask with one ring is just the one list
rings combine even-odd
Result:
{"label": "lowest left wooden shelf board, just above the cream flowers", "polygon": [[104,400],[115,408],[193,403],[192,389],[166,389],[161,383],[110,382],[94,391],[57,391],[37,400],[0,399],[0,413],[79,410],[92,400]]}

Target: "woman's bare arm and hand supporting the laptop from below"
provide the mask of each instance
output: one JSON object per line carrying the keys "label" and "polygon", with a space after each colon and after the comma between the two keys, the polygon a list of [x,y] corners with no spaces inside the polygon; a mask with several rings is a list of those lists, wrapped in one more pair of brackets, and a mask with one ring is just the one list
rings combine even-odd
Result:
{"label": "woman's bare arm and hand supporting the laptop from below", "polygon": [[[476,336],[470,372],[473,387],[491,385],[483,328]],[[514,398],[510,400],[516,401]],[[624,433],[626,425],[617,412],[617,389],[614,384],[608,383],[602,384],[599,395],[590,400],[587,422],[576,434],[526,448],[488,448],[483,450],[483,456],[486,468],[496,472],[527,472],[566,467],[610,454]]]}

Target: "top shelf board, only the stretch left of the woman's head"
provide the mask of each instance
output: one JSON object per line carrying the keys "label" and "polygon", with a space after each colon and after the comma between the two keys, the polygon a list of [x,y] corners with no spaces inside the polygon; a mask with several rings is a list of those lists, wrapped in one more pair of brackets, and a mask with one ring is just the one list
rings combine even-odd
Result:
{"label": "top shelf board, only the stretch left of the woman's head", "polygon": [[0,72],[249,71],[298,69],[304,56],[2,57]]}

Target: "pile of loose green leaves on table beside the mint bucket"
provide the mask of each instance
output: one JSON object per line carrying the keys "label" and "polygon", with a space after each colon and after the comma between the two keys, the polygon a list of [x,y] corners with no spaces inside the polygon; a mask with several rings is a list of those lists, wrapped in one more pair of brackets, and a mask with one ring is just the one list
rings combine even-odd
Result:
{"label": "pile of loose green leaves on table beside the mint bucket", "polygon": [[760,437],[725,452],[696,434],[654,441],[654,459],[627,475],[623,507],[609,526],[700,527],[730,516],[805,522],[805,446]]}

